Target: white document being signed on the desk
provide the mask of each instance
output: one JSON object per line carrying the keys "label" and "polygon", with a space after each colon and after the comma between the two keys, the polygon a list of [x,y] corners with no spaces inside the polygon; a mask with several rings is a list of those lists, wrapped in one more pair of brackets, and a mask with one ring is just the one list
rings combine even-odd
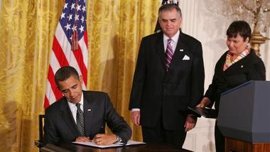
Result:
{"label": "white document being signed on the desk", "polygon": [[132,146],[132,145],[143,145],[146,144],[144,142],[139,142],[139,141],[128,141],[126,144],[124,143],[112,143],[110,145],[97,145],[95,142],[72,142],[75,144],[80,144],[84,146],[91,146],[91,147],[96,147],[96,148],[112,148],[112,147],[122,147],[122,146]]}

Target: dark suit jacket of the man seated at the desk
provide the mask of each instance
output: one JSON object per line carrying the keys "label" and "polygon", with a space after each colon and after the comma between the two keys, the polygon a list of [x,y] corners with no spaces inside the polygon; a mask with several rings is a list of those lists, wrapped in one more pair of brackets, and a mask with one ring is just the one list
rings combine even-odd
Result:
{"label": "dark suit jacket of the man seated at the desk", "polygon": [[[117,114],[109,96],[104,92],[83,91],[85,136],[92,139],[104,133],[105,124],[126,143],[131,137],[131,128],[123,117]],[[65,97],[45,110],[43,143],[66,143],[79,136],[68,101]]]}

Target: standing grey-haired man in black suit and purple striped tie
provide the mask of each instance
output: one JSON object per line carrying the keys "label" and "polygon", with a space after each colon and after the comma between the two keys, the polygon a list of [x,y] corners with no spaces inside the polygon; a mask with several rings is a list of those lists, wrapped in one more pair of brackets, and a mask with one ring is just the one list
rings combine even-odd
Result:
{"label": "standing grey-haired man in black suit and purple striped tie", "polygon": [[142,126],[144,142],[182,148],[196,119],[188,114],[202,99],[204,67],[200,41],[180,31],[182,14],[174,4],[161,6],[163,32],[141,40],[129,109]]}

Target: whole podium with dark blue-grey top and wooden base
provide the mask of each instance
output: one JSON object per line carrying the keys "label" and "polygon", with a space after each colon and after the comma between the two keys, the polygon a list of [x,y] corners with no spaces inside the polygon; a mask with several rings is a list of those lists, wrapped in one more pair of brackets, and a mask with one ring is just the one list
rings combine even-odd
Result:
{"label": "whole podium with dark blue-grey top and wooden base", "polygon": [[270,151],[270,82],[249,81],[222,93],[217,126],[226,152]]}

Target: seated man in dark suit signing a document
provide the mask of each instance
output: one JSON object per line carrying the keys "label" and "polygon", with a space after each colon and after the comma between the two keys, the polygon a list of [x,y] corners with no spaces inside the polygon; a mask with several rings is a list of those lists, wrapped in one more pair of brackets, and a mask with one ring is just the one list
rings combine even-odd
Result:
{"label": "seated man in dark suit signing a document", "polygon": [[[82,76],[74,67],[61,67],[55,83],[64,97],[45,110],[43,143],[93,140],[107,145],[130,139],[131,128],[117,114],[108,94],[82,90]],[[104,134],[105,124],[114,134]]]}

